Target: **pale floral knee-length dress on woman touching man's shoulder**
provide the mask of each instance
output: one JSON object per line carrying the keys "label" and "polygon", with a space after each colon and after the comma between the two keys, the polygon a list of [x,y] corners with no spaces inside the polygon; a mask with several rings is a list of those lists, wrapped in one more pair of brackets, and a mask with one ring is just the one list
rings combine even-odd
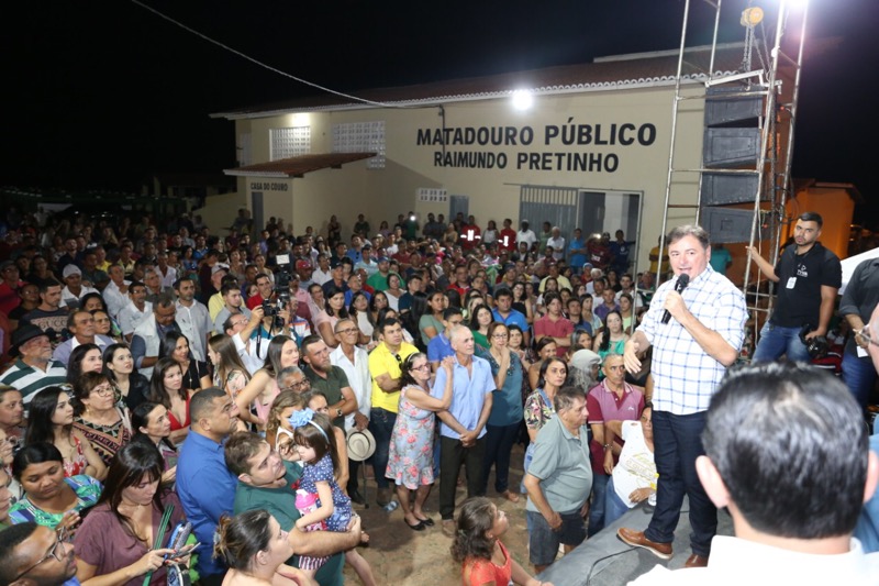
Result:
{"label": "pale floral knee-length dress on woman touching man's shoulder", "polygon": [[407,399],[411,388],[400,391],[400,408],[393,424],[388,468],[385,476],[410,490],[433,484],[433,430],[434,414],[419,409]]}

